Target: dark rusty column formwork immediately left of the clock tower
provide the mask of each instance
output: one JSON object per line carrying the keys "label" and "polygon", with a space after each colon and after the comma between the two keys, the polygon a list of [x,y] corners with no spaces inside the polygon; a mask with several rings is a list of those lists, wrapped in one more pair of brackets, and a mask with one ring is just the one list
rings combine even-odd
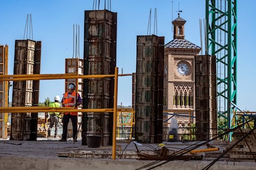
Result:
{"label": "dark rusty column formwork immediately left of the clock tower", "polygon": [[163,140],[164,37],[137,36],[135,140]]}

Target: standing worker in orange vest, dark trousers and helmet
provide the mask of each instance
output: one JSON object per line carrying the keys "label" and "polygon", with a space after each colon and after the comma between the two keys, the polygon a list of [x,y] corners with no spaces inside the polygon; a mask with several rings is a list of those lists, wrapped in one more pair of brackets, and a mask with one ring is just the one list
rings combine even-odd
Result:
{"label": "standing worker in orange vest, dark trousers and helmet", "polygon": [[[68,91],[63,95],[61,100],[62,107],[72,107],[77,108],[82,104],[82,99],[80,95],[75,91],[75,84],[69,83]],[[62,123],[63,123],[63,132],[60,142],[67,141],[67,125],[69,124],[69,118],[72,121],[73,127],[73,140],[77,142],[77,112],[66,112],[63,115]]]}

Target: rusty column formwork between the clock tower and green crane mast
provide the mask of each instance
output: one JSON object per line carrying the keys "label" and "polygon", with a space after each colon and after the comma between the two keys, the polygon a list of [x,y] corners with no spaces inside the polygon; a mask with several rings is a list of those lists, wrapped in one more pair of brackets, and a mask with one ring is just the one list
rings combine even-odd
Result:
{"label": "rusty column formwork between the clock tower and green crane mast", "polygon": [[195,56],[195,120],[197,140],[217,135],[215,56]]}

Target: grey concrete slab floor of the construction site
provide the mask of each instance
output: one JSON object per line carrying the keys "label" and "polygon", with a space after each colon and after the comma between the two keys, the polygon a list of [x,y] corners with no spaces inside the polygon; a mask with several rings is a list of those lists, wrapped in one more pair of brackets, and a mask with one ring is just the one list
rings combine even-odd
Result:
{"label": "grey concrete slab floor of the construction site", "polygon": [[[58,153],[66,153],[70,151],[80,150],[112,150],[112,146],[101,146],[100,148],[88,148],[82,145],[81,139],[78,142],[73,142],[72,139],[67,142],[59,142],[59,138],[38,138],[37,141],[27,140],[0,140],[0,169],[150,169],[150,163],[162,164],[156,166],[153,164],[153,169],[203,169],[210,161],[142,161],[136,159],[120,159],[116,156],[116,160],[111,158],[63,158],[59,157]],[[166,147],[172,149],[186,148],[188,145],[194,145],[193,142],[163,142]],[[136,151],[133,143],[117,143],[120,146],[121,152]],[[158,144],[138,145],[139,150],[153,150],[158,148]],[[201,148],[203,148],[202,146]],[[120,152],[116,148],[117,153]],[[118,155],[118,154],[117,154]],[[144,167],[145,166],[145,167]],[[254,160],[246,161],[217,161],[210,169],[255,169],[256,163]]]}

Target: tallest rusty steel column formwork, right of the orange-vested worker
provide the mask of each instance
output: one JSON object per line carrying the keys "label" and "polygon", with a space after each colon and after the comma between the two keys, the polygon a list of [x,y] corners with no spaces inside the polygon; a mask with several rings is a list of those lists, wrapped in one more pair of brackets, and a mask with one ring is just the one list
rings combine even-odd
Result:
{"label": "tallest rusty steel column formwork, right of the orange-vested worker", "polygon": [[[84,75],[114,75],[116,31],[117,13],[109,10],[85,10]],[[83,80],[83,108],[113,106],[114,78]],[[83,145],[100,147],[100,144],[112,144],[113,113],[85,113],[82,127]]]}

